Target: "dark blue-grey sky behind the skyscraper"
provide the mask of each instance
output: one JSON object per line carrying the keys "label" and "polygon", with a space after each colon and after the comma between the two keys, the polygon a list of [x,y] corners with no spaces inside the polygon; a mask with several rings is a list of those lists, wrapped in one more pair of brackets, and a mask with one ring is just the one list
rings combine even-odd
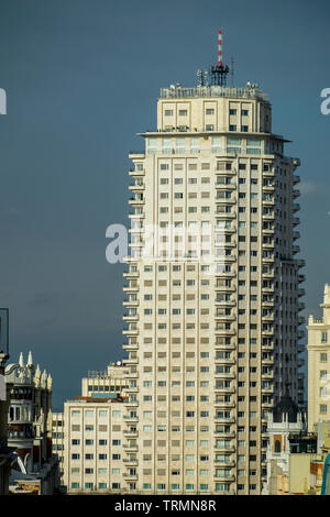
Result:
{"label": "dark blue-grey sky behind the skyscraper", "polygon": [[[330,283],[330,2],[0,0],[0,307],[11,361],[33,351],[54,406],[89,369],[123,356],[122,265],[106,229],[128,223],[128,153],[156,127],[161,87],[235,62],[235,84],[271,96],[273,131],[299,156],[306,315]],[[140,142],[141,140],[141,142]]]}

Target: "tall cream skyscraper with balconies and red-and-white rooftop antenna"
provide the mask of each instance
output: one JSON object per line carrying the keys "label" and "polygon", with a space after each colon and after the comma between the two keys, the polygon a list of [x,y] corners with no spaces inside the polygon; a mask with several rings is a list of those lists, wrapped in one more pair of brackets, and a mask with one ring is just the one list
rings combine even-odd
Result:
{"label": "tall cream skyscraper with balconies and red-and-white rooftop antenna", "polygon": [[218,45],[130,154],[129,492],[260,494],[267,413],[297,399],[299,161],[258,86],[227,86]]}

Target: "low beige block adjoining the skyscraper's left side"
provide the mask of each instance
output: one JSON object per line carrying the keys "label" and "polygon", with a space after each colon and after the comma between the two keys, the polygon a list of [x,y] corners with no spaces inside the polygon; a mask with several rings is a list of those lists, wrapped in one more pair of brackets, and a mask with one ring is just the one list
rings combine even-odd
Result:
{"label": "low beige block adjoining the skyscraper's left side", "polygon": [[120,492],[135,475],[125,462],[121,399],[76,397],[64,404],[64,485],[68,493]]}

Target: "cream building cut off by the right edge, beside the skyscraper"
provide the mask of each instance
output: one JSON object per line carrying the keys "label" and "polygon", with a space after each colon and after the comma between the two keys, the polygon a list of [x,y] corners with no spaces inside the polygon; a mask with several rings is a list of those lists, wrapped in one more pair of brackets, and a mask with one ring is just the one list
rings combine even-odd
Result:
{"label": "cream building cut off by the right edge, beside the skyscraper", "polygon": [[326,284],[321,319],[308,319],[308,430],[330,420],[330,286]]}

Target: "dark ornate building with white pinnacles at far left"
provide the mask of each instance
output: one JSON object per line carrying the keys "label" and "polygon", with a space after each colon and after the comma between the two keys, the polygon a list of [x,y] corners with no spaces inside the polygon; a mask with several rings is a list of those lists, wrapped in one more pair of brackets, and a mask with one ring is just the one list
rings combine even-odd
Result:
{"label": "dark ornate building with white pinnacles at far left", "polygon": [[59,487],[58,458],[52,451],[52,377],[32,354],[28,363],[6,367],[10,386],[8,411],[8,444],[15,451],[9,479],[11,494],[53,495]]}

